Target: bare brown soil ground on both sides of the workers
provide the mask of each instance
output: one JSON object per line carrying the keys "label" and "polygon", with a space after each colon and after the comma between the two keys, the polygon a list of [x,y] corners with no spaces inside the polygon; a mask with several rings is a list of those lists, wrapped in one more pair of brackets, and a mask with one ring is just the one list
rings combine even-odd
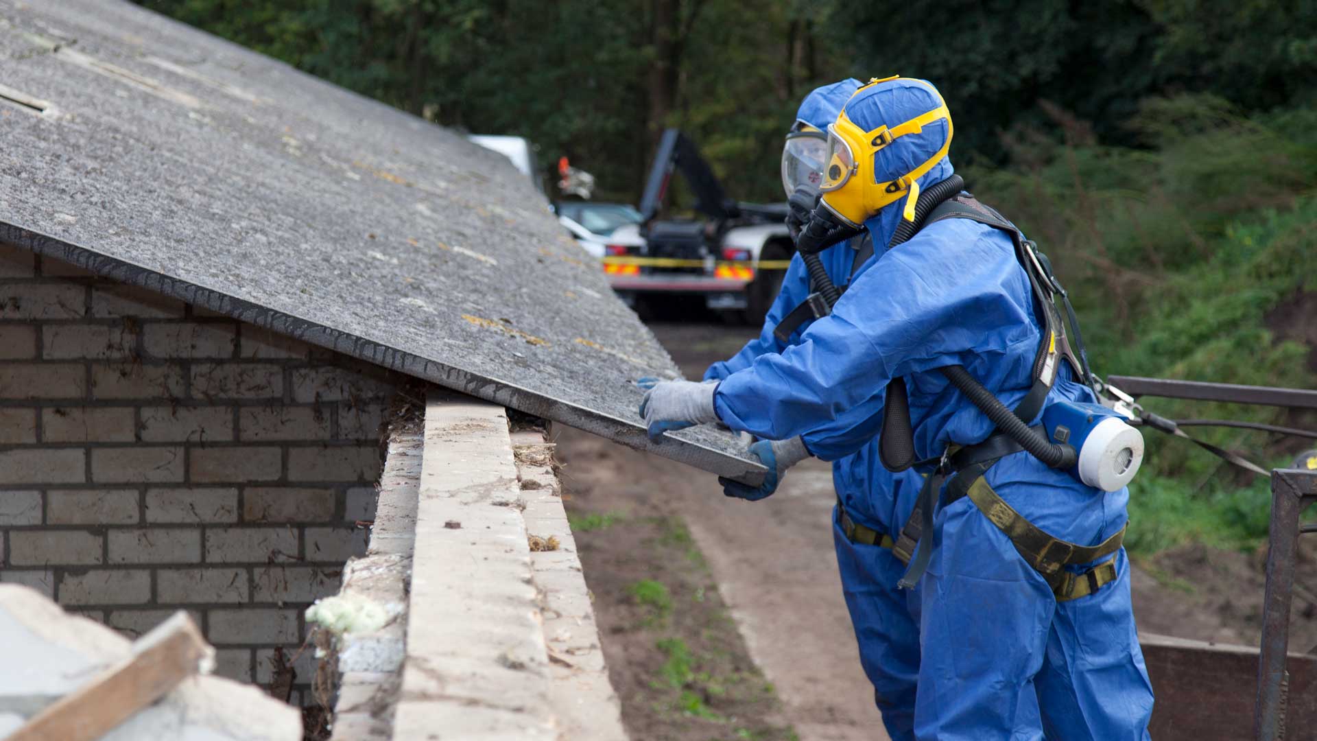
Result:
{"label": "bare brown soil ground on both sides of the workers", "polygon": [[[735,353],[751,334],[698,323],[653,328],[689,378]],[[785,725],[805,740],[886,738],[842,600],[826,464],[801,464],[777,494],[752,504],[723,497],[715,477],[694,468],[576,430],[556,434],[569,512],[578,522],[595,516],[595,525],[612,517],[611,525],[574,530],[633,738],[790,737]],[[672,541],[672,533],[684,531],[693,547]],[[1296,651],[1317,646],[1317,550],[1305,552],[1291,639]],[[1189,546],[1139,563],[1133,588],[1141,630],[1256,645],[1264,558]],[[636,596],[633,585],[644,579],[668,587],[666,624],[653,622]],[[702,657],[695,674],[741,678],[727,683],[734,690],[711,692],[698,676],[676,690],[662,674],[670,650],[658,646],[673,636],[686,636]],[[753,691],[748,659],[776,692]],[[703,707],[724,720],[682,709],[684,691],[701,695]],[[759,725],[747,725],[751,719]]]}

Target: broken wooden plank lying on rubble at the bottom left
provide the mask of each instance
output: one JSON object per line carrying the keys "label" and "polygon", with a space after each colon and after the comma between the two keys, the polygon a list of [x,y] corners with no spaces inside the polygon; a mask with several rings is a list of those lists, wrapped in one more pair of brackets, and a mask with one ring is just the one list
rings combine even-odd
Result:
{"label": "broken wooden plank lying on rubble at the bottom left", "polygon": [[132,657],[34,715],[8,741],[95,741],[200,671],[213,653],[179,610],[133,643]]}

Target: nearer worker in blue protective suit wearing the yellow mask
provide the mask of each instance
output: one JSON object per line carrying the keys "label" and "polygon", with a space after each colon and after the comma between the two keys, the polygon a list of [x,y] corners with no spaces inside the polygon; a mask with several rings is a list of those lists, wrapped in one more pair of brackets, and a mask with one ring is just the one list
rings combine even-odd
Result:
{"label": "nearer worker in blue protective suit wearing the yellow mask", "polygon": [[[830,127],[823,203],[802,240],[863,220],[876,244],[888,244],[902,222],[918,220],[919,191],[951,178],[951,115],[925,80],[889,78],[857,91]],[[810,454],[836,460],[872,442],[889,384],[903,380],[914,456],[947,461],[1000,438],[948,368],[963,367],[1017,411],[1047,369],[1031,421],[1052,405],[1093,402],[1079,372],[1055,363],[1051,328],[1047,349],[1047,310],[1017,251],[986,222],[931,220],[882,252],[797,344],[716,386],[651,389],[641,409],[651,435],[716,421],[766,440],[801,438]],[[1088,487],[1014,450],[979,468],[939,464],[930,476],[950,477],[932,490],[932,527],[915,556],[926,572],[914,736],[1147,738],[1152,691],[1119,546],[1129,492]],[[770,458],[770,476],[780,475]]]}

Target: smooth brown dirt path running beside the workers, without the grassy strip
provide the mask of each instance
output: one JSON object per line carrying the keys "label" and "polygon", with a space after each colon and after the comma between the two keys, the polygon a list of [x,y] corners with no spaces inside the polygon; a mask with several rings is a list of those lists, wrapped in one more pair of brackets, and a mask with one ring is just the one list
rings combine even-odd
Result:
{"label": "smooth brown dirt path running beside the workers, without the grassy strip", "polygon": [[[748,335],[745,327],[653,328],[691,378],[736,352]],[[773,497],[744,502],[724,497],[712,475],[585,432],[558,427],[557,443],[568,488],[578,492],[569,506],[632,517],[657,512],[686,523],[802,740],[886,738],[842,600],[827,464],[801,464]],[[585,572],[589,581],[590,564]]]}

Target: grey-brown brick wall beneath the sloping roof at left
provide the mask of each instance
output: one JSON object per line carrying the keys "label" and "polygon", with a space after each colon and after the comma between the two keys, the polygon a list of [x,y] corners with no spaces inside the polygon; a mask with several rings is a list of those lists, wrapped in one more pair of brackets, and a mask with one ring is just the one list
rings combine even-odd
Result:
{"label": "grey-brown brick wall beneath the sloping roof at left", "polygon": [[130,634],[192,610],[267,682],[363,551],[398,382],[0,245],[0,581]]}

